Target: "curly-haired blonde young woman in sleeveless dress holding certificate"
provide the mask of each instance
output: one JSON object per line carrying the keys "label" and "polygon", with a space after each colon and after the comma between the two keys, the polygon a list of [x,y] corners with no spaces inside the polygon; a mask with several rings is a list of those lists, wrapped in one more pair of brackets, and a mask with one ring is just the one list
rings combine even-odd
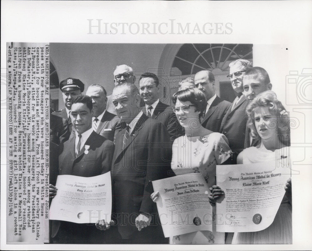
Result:
{"label": "curly-haired blonde young woman in sleeveless dress holding certificate", "polygon": [[[289,158],[290,129],[289,116],[282,103],[272,91],[260,93],[246,108],[248,126],[261,142],[256,147],[244,149],[237,157],[237,164],[267,162]],[[291,178],[286,181],[285,196],[273,223],[258,232],[234,233],[232,244],[291,244],[292,205]],[[210,202],[224,195],[218,187],[212,187]]]}

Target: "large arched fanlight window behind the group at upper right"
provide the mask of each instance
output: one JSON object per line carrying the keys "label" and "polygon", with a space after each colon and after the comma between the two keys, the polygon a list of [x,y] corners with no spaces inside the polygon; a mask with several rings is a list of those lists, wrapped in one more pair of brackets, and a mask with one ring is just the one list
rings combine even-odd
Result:
{"label": "large arched fanlight window behind the group at upper right", "polygon": [[[164,100],[178,90],[183,78],[194,77],[201,70],[209,70],[215,76],[215,91],[221,98],[232,102],[235,93],[227,78],[229,63],[236,59],[252,62],[252,44],[168,44],[159,60],[159,68],[168,72],[170,92]],[[165,95],[164,95],[165,96]]]}

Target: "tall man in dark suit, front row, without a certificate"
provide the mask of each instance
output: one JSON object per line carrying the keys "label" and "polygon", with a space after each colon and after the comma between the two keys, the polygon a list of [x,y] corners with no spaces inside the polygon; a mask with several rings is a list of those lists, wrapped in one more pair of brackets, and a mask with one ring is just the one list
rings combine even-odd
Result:
{"label": "tall man in dark suit, front row, without a certificate", "polygon": [[[140,95],[135,85],[117,85],[113,103],[119,118],[127,124],[116,137],[111,170],[116,243],[168,244],[148,189],[150,181],[173,175],[168,132],[160,121],[140,111]],[[96,226],[102,230],[109,227],[103,220]]]}

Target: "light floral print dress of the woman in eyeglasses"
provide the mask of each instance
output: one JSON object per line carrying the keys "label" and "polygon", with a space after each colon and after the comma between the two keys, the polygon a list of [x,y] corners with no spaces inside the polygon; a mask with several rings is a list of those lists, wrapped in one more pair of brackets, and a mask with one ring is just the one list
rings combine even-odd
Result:
{"label": "light floral print dress of the woman in eyeglasses", "polygon": [[[201,173],[208,187],[216,184],[216,165],[231,156],[227,138],[221,133],[177,138],[172,146],[171,169],[176,175]],[[197,231],[170,238],[171,244],[224,244],[225,233]]]}

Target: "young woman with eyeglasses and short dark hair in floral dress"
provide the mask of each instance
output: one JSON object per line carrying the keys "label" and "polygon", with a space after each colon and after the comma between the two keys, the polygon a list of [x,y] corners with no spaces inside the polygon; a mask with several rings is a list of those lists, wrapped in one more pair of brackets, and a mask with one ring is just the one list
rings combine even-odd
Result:
{"label": "young woman with eyeglasses and short dark hair in floral dress", "polygon": [[[232,151],[228,140],[223,134],[202,127],[200,117],[205,112],[207,100],[200,90],[188,88],[178,91],[173,95],[173,103],[173,111],[184,127],[185,135],[173,142],[171,169],[176,175],[201,173],[208,186],[212,187],[216,184],[216,165],[230,161]],[[158,192],[152,193],[151,198],[156,202]],[[170,243],[224,244],[225,233],[197,231],[173,236]]]}

